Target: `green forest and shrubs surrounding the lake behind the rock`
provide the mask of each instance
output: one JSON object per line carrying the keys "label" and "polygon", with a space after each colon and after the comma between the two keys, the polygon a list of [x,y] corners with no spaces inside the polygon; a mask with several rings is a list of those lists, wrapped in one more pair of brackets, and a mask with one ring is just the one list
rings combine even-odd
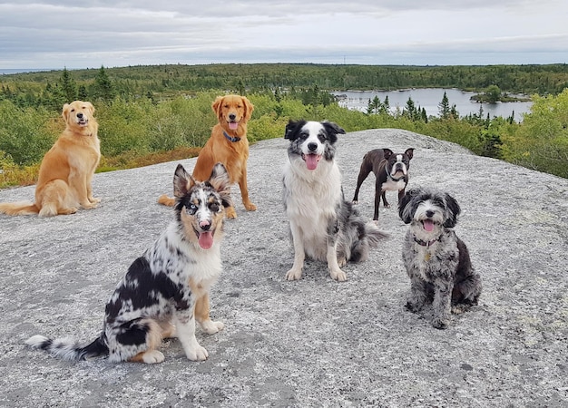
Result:
{"label": "green forest and shrubs surrounding the lake behind the rock", "polygon": [[[519,123],[490,118],[482,108],[462,116],[446,95],[439,114],[428,117],[410,99],[397,112],[377,98],[367,112],[356,112],[339,107],[329,93],[412,87],[475,91],[489,102],[524,94],[533,105]],[[0,188],[35,182],[45,151],[64,128],[65,102],[93,102],[103,154],[99,171],[108,171],[198,154],[216,123],[211,102],[230,92],[255,106],[251,143],[282,137],[289,119],[328,120],[346,131],[416,131],[568,178],[566,64],[176,64],[0,75]]]}

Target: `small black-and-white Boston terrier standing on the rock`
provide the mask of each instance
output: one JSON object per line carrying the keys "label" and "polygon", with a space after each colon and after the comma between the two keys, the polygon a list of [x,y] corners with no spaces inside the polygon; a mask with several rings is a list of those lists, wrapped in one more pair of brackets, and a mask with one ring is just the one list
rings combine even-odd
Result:
{"label": "small black-and-white Boston terrier standing on the rock", "polygon": [[353,204],[357,204],[359,189],[371,171],[375,174],[375,212],[373,219],[378,219],[378,206],[381,197],[388,209],[387,190],[398,191],[398,202],[405,195],[408,184],[408,169],[410,160],[414,156],[414,149],[406,149],[404,153],[394,153],[390,149],[374,149],[367,151],[361,162],[361,169],[357,177],[357,188],[353,196]]}

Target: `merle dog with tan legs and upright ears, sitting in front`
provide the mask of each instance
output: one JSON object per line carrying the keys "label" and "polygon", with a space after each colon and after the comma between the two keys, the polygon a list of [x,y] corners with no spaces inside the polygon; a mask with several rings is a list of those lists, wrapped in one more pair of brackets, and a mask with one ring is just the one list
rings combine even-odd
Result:
{"label": "merle dog with tan legs and upright ears, sitting in front", "polygon": [[175,219],[136,259],[106,305],[103,332],[93,343],[34,335],[27,345],[64,360],[109,355],[112,362],[161,363],[162,338],[178,337],[190,360],[205,360],[195,338],[195,320],[208,333],[223,328],[209,316],[209,290],[221,271],[220,241],[229,208],[230,184],[218,163],[207,181],[196,181],[178,165],[173,178]]}

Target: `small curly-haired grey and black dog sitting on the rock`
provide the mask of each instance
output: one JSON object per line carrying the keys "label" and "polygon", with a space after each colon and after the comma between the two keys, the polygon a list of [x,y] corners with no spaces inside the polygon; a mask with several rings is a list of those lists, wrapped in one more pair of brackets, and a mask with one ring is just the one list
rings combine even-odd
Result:
{"label": "small curly-haired grey and black dog sitting on the rock", "polygon": [[410,224],[402,248],[411,291],[406,308],[417,312],[432,303],[438,329],[447,327],[452,311],[476,305],[481,294],[481,277],[452,229],[460,212],[452,196],[436,189],[410,189],[398,205]]}

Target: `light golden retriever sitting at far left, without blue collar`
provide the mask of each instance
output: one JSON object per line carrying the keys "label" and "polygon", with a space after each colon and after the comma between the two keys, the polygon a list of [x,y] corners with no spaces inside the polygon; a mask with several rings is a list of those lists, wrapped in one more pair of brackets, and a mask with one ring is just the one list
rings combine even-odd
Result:
{"label": "light golden retriever sitting at far left, without blue collar", "polygon": [[93,198],[91,181],[101,159],[101,149],[99,125],[93,113],[91,102],[64,104],[65,130],[42,160],[35,202],[0,203],[0,212],[50,217],[73,214],[79,207],[96,207],[100,199]]}

